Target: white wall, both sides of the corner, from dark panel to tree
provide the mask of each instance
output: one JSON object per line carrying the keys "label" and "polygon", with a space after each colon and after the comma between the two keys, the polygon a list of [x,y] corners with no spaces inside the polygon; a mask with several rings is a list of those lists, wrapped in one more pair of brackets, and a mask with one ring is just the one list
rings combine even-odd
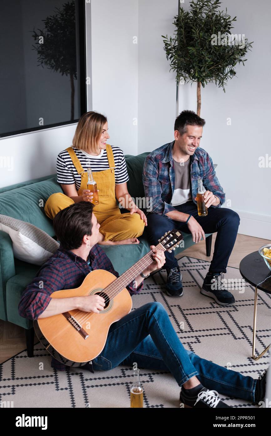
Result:
{"label": "white wall, both sides of the corner, from dark panel to tree", "polygon": [[161,35],[177,11],[177,0],[91,0],[92,107],[124,153],[173,139],[176,83]]}

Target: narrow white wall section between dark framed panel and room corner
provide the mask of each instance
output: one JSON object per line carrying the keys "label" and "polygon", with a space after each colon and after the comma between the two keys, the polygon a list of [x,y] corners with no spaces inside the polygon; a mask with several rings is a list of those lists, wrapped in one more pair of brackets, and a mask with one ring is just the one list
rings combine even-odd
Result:
{"label": "narrow white wall section between dark framed panel and room corner", "polygon": [[137,0],[91,0],[92,107],[124,154],[137,154],[137,35]]}

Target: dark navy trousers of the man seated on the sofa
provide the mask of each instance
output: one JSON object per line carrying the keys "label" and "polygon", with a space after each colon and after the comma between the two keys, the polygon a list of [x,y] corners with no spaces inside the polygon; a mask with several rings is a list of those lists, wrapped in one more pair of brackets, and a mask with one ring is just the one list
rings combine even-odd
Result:
{"label": "dark navy trousers of the man seated on the sofa", "polygon": [[[208,215],[206,217],[199,217],[197,214],[197,205],[194,204],[193,201],[187,201],[187,203],[175,206],[175,208],[179,212],[191,214],[201,225],[204,233],[217,232],[210,271],[226,272],[228,260],[234,247],[240,224],[239,215],[231,209],[210,207],[208,208]],[[147,232],[152,245],[157,245],[158,239],[160,239],[165,232],[173,228],[177,228],[181,230],[181,232],[190,233],[186,224],[180,221],[174,221],[166,215],[150,213],[147,216],[147,220]],[[166,263],[164,268],[174,268],[178,266],[177,260],[174,257],[174,251],[171,253],[165,252],[165,257]]]}

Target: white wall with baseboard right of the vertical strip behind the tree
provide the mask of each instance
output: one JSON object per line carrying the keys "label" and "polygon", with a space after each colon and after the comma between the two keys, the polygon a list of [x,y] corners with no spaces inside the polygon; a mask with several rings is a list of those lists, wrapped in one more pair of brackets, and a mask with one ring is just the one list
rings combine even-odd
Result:
{"label": "white wall with baseboard right of the vertical strip behind the tree", "polygon": [[[271,239],[271,170],[258,165],[259,157],[271,156],[271,89],[265,75],[271,69],[271,3],[260,0],[258,6],[253,0],[227,0],[221,5],[231,17],[237,16],[232,33],[245,34],[254,43],[225,93],[211,83],[202,89],[201,116],[206,125],[201,146],[218,164],[226,201],[241,217],[239,233]],[[196,111],[196,84],[180,86],[179,111],[183,109]]]}

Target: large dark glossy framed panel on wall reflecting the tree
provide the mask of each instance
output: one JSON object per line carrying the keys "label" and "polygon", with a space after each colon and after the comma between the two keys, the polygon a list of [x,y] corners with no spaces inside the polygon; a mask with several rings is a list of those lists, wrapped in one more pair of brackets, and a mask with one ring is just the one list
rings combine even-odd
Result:
{"label": "large dark glossy framed panel on wall reflecting the tree", "polygon": [[86,112],[84,0],[13,0],[0,14],[0,137]]}

